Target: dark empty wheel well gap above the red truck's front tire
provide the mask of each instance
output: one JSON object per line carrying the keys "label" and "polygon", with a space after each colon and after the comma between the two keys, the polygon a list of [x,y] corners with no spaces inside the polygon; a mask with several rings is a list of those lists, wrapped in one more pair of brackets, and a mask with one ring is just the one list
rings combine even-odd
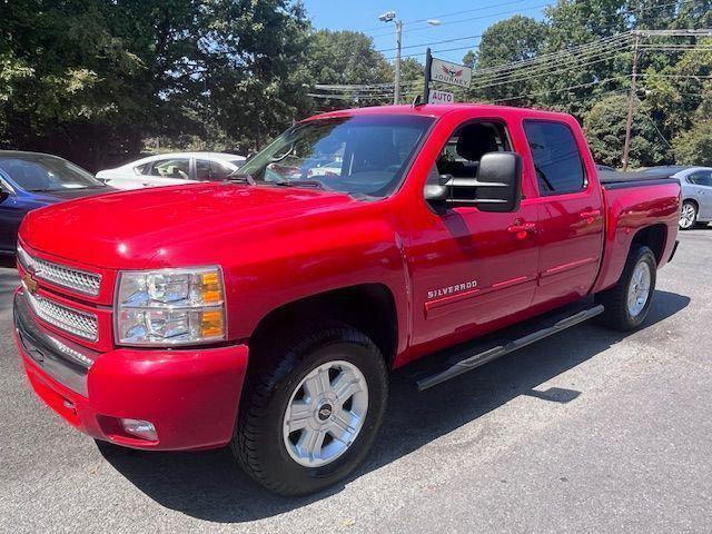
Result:
{"label": "dark empty wheel well gap above the red truck's front tire", "polygon": [[346,323],[373,339],[388,364],[393,363],[398,339],[398,322],[393,294],[383,284],[363,284],[314,295],[270,312],[253,336],[250,346],[273,339],[279,330],[332,319]]}

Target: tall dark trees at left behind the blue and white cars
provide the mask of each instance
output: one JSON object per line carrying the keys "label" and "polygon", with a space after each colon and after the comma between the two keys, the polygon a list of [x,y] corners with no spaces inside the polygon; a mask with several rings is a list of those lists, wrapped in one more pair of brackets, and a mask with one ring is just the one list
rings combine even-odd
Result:
{"label": "tall dark trees at left behind the blue and white cars", "polygon": [[0,17],[3,146],[91,169],[149,136],[260,145],[308,106],[291,0],[13,0]]}

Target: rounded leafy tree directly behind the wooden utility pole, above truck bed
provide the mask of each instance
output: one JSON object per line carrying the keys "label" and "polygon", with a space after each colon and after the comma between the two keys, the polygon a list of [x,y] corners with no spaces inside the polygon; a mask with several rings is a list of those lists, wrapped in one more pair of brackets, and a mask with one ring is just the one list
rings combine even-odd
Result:
{"label": "rounded leafy tree directly behind the wooden utility pole, above truck bed", "polygon": [[[599,164],[617,167],[623,159],[627,97],[611,95],[587,113],[584,129]],[[661,165],[670,157],[669,147],[640,102],[633,109],[630,161],[632,167]]]}

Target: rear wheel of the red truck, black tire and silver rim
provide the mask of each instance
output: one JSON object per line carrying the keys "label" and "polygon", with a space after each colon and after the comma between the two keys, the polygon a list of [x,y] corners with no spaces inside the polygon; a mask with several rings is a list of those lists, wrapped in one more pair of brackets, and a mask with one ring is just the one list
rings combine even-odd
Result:
{"label": "rear wheel of the red truck, black tire and silver rim", "polygon": [[605,307],[601,319],[617,330],[632,330],[641,325],[655,291],[657,263],[646,246],[636,246],[627,257],[619,283],[596,296]]}

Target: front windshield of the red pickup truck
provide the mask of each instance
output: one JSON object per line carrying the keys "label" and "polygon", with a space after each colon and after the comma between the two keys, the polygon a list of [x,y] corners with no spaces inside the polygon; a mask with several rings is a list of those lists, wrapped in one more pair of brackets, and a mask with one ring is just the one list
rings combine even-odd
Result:
{"label": "front windshield of the red pickup truck", "polygon": [[314,186],[383,198],[400,182],[428,117],[369,116],[297,125],[239,170],[257,184]]}

